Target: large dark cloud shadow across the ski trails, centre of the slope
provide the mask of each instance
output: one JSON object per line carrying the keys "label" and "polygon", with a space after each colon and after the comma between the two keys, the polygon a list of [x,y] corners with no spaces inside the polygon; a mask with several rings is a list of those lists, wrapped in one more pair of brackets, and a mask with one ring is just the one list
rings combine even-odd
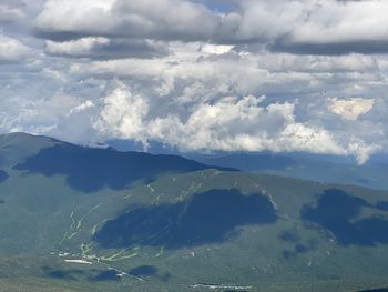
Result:
{"label": "large dark cloud shadow across the ski trails, centre of the slope", "polygon": [[181,249],[224,242],[238,234],[238,226],[276,221],[276,210],[265,195],[211,190],[178,203],[133,207],[108,221],[94,241],[106,249],[134,244]]}

